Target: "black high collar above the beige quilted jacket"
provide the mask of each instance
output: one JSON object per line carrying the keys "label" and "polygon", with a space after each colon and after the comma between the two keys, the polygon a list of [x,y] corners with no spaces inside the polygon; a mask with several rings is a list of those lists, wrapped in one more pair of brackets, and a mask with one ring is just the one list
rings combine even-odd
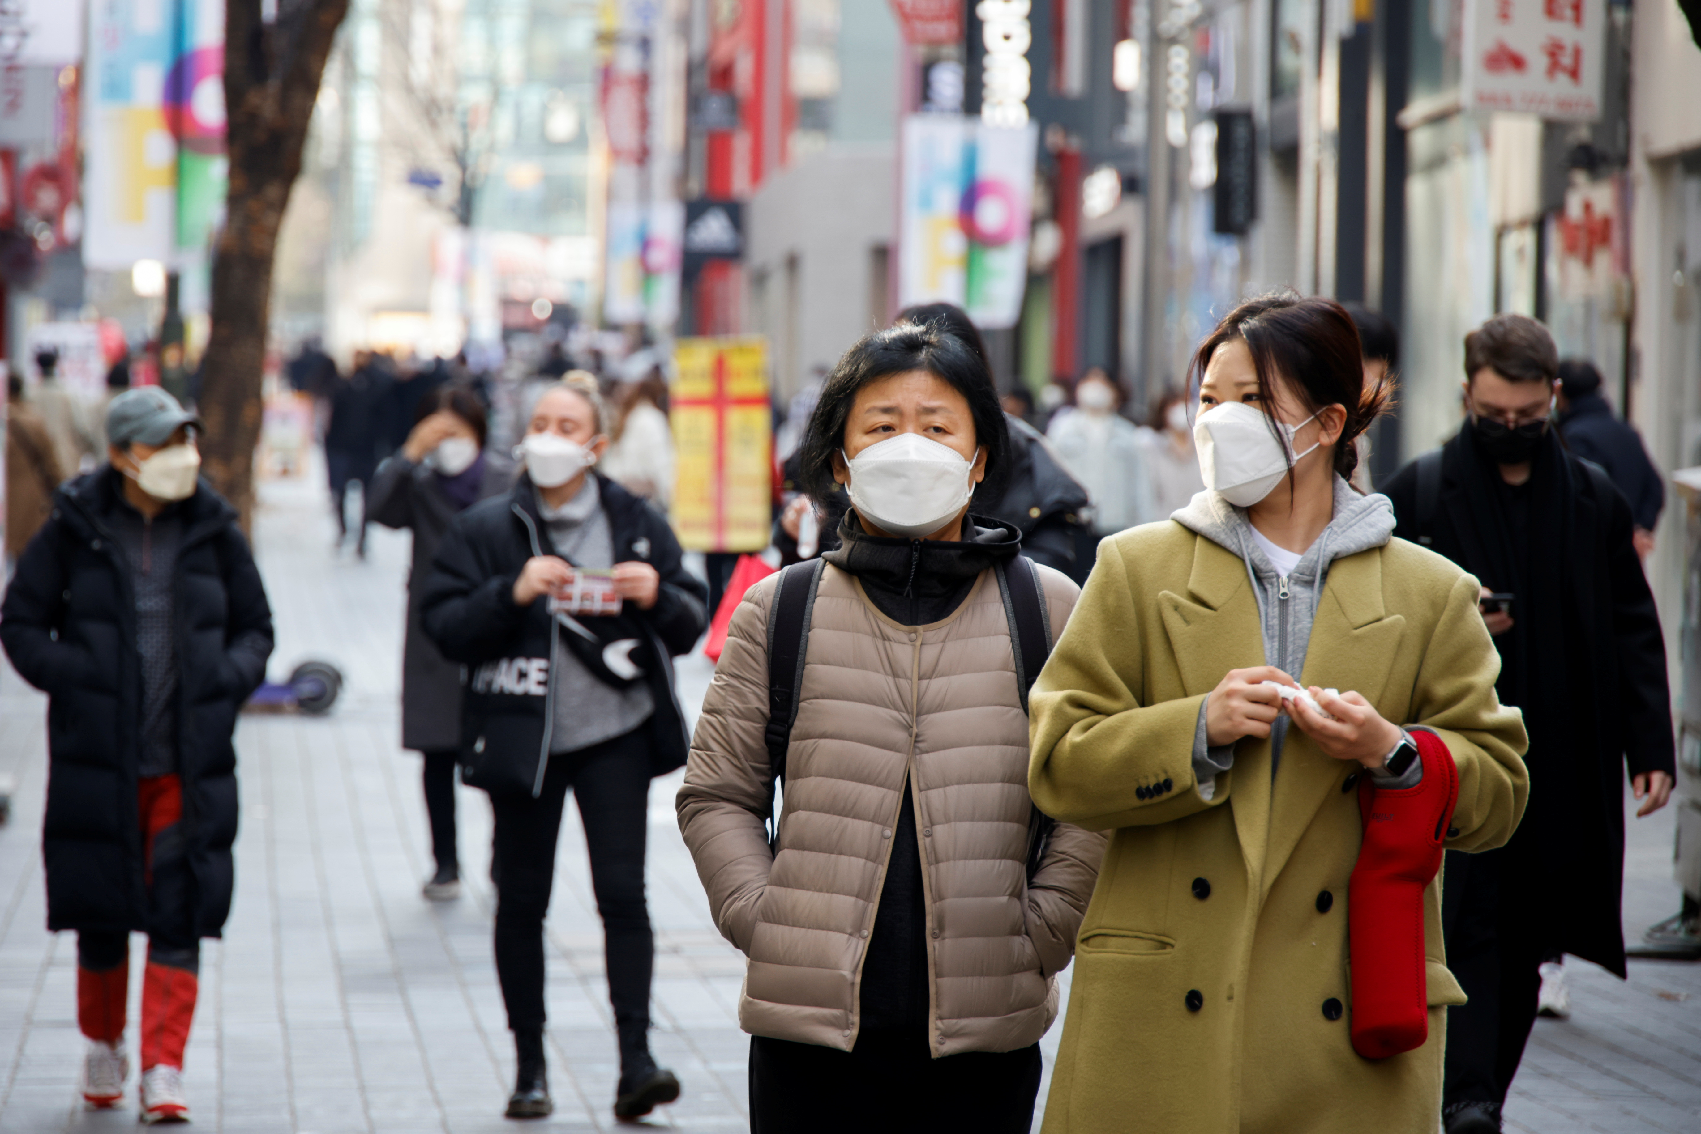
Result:
{"label": "black high collar above the beige quilted jacket", "polygon": [[862,530],[852,508],[839,522],[839,547],[822,558],[862,580],[862,590],[888,619],[925,626],[949,617],[981,571],[1022,549],[1022,534],[1004,520],[971,515],[966,524],[964,541],[890,539]]}

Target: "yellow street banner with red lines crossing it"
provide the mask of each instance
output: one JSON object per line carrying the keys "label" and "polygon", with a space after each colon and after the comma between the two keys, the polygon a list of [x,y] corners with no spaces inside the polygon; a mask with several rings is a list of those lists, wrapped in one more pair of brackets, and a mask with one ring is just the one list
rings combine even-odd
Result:
{"label": "yellow street banner with red lines crossing it", "polygon": [[767,340],[680,338],[670,394],[674,530],[687,551],[760,551],[774,524]]}

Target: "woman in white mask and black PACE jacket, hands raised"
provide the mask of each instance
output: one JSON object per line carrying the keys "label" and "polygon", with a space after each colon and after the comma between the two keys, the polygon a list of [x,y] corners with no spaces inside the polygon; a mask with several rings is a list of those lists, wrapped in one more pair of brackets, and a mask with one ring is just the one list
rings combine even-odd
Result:
{"label": "woman in white mask and black PACE jacket, hands raised", "polygon": [[[464,666],[463,779],[490,792],[495,813],[497,981],[517,1057],[510,1119],[553,1110],[543,920],[568,789],[619,1032],[614,1114],[636,1119],[679,1098],[679,1080],[650,1054],[645,833],[651,777],[689,750],[672,658],[703,634],[706,588],[667,520],[594,471],[606,447],[597,379],[575,371],[546,386],[515,449],[526,468],[514,491],[451,522],[420,598],[425,632]],[[568,600],[580,571],[611,580],[619,614]]]}

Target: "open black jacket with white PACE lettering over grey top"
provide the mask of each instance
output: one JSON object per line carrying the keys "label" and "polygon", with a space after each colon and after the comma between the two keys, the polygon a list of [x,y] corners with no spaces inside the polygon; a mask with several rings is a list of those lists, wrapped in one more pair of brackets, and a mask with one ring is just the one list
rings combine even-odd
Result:
{"label": "open black jacket with white PACE lettering over grey top", "polygon": [[[628,604],[623,617],[648,639],[653,663],[645,666],[645,680],[655,712],[643,728],[650,774],[665,775],[684,765],[691,750],[674,695],[674,658],[703,636],[708,588],[686,571],[679,539],[655,508],[606,476],[597,476],[597,490],[614,561],[641,559],[662,576],[655,607]],[[532,556],[553,554],[531,478],[521,474],[510,495],[481,500],[454,517],[420,588],[425,636],[464,666],[461,762],[473,787],[507,791],[543,782],[555,699],[549,660],[561,631],[546,600],[514,605],[514,580]]]}

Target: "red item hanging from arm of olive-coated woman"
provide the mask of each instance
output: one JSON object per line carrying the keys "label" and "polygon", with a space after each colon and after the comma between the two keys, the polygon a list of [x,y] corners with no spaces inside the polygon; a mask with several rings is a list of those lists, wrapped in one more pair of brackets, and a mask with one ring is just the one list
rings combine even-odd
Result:
{"label": "red item hanging from arm of olive-coated woman", "polygon": [[1434,733],[1414,731],[1424,779],[1386,791],[1359,780],[1364,845],[1347,887],[1352,957],[1352,1049],[1386,1059],[1429,1039],[1424,889],[1441,869],[1459,770]]}

